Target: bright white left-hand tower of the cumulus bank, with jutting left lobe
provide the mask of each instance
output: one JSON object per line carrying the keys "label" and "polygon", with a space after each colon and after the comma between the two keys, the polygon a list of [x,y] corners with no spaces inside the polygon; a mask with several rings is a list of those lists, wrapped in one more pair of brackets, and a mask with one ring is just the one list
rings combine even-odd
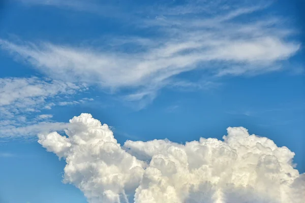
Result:
{"label": "bright white left-hand tower of the cumulus bank, with jutting left lobe", "polygon": [[90,114],[70,123],[68,138],[52,132],[40,134],[38,141],[66,159],[64,182],[76,185],[90,202],[132,201],[146,163],[122,149],[108,125]]}

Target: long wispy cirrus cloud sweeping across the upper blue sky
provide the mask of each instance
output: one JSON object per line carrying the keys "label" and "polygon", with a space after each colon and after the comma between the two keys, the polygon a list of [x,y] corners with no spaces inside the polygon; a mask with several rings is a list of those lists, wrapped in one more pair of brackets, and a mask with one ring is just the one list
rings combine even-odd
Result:
{"label": "long wispy cirrus cloud sweeping across the upper blue sky", "polygon": [[[156,37],[118,36],[108,44],[96,44],[102,47],[100,50],[48,42],[20,44],[0,40],[0,44],[2,49],[54,79],[98,84],[111,91],[128,88],[134,92],[127,99],[148,96],[149,102],[158,89],[171,84],[174,76],[195,69],[205,69],[214,76],[282,69],[281,61],[300,47],[291,40],[294,30],[286,28],[277,17],[247,16],[247,23],[240,20],[263,8],[219,9],[212,16],[205,15],[208,8],[193,15],[171,10],[165,12],[162,21],[135,21],[142,29],[154,28]],[[127,44],[132,45],[133,51],[124,49]]]}

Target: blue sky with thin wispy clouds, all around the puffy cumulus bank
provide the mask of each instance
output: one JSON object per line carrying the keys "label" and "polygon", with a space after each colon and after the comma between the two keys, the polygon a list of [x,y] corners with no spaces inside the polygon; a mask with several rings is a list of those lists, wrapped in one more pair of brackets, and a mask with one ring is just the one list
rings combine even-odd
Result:
{"label": "blue sky with thin wispy clouds, all around the puffy cumulus bank", "polygon": [[[305,172],[301,1],[4,2],[0,202],[86,202],[37,143],[81,113],[126,140],[222,139],[243,126]],[[304,7],[303,7],[304,8]]]}

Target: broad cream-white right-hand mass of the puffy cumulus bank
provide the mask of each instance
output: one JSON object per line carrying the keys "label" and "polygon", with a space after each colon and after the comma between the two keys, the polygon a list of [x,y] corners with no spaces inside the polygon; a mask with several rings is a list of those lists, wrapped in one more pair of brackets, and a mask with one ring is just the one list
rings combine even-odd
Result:
{"label": "broad cream-white right-hand mass of the puffy cumulus bank", "polygon": [[301,202],[293,194],[305,197],[303,190],[291,187],[299,174],[289,149],[250,136],[242,127],[229,127],[223,139],[201,138],[186,145],[127,141],[131,154],[140,159],[144,154],[150,161],[136,202]]}

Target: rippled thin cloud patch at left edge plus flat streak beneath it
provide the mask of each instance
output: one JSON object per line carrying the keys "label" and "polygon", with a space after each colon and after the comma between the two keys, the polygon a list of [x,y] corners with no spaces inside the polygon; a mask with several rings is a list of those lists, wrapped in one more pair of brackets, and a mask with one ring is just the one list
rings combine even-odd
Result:
{"label": "rippled thin cloud patch at left edge plus flat streak beneath it", "polygon": [[62,123],[39,122],[52,115],[37,114],[55,106],[51,101],[58,104],[63,97],[69,99],[86,89],[82,84],[36,77],[0,78],[0,137],[36,136],[65,128]]}

